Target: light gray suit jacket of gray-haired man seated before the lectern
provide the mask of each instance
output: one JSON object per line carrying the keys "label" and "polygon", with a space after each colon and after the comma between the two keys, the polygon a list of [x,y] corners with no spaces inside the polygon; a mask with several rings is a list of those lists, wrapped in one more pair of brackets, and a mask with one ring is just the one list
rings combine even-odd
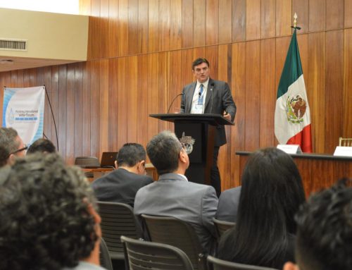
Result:
{"label": "light gray suit jacket of gray-haired man seated before the lectern", "polygon": [[[165,173],[159,180],[138,190],[134,214],[173,216],[194,227],[204,250],[215,245],[215,217],[218,197],[213,187],[188,182],[176,173]],[[172,232],[170,232],[172,233]]]}

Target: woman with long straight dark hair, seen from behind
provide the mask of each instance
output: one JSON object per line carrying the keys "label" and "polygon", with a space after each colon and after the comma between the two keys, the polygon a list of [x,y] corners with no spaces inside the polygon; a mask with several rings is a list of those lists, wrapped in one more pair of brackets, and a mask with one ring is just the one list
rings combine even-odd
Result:
{"label": "woman with long straight dark hair, seen from behind", "polygon": [[219,259],[282,269],[294,259],[294,214],[305,201],[294,160],[276,148],[251,154],[241,179],[236,227],[220,238]]}

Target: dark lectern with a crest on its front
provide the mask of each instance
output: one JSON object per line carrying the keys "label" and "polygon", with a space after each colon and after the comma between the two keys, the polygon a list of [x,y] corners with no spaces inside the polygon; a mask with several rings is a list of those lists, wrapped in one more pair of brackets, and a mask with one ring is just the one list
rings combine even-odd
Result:
{"label": "dark lectern with a crest on its front", "polygon": [[160,113],[153,118],[175,123],[175,134],[189,151],[189,181],[210,185],[210,169],[213,166],[215,129],[218,125],[234,125],[219,114]]}

